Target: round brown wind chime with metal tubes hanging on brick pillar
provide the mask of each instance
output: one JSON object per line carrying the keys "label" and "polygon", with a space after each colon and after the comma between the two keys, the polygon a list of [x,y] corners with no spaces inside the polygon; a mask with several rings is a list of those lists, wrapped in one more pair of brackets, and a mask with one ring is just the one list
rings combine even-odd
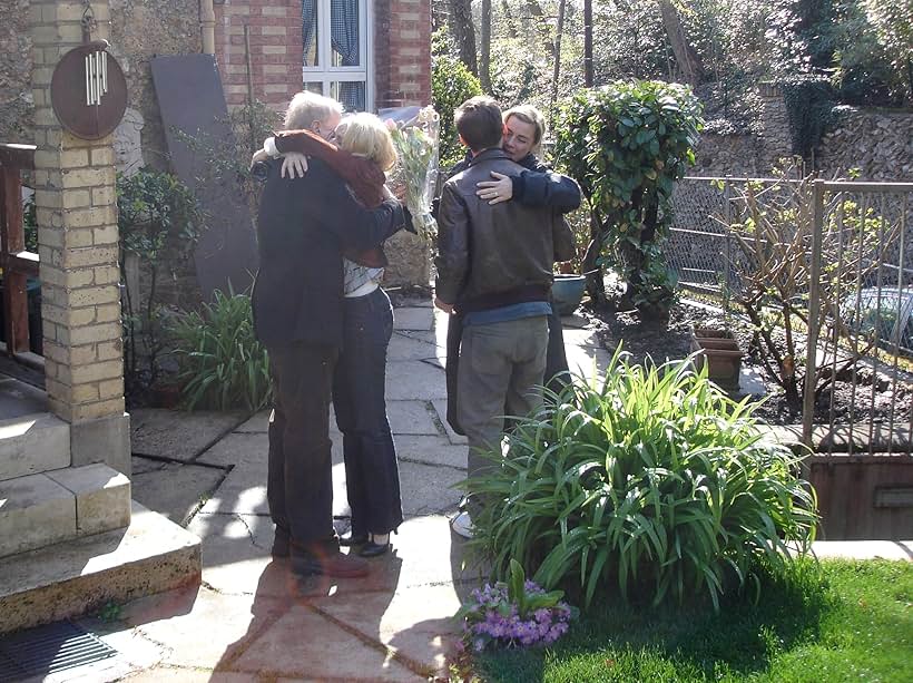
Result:
{"label": "round brown wind chime with metal tubes hanging on brick pillar", "polygon": [[107,40],[92,40],[98,27],[91,2],[84,0],[82,45],[67,52],[51,76],[51,106],[60,124],[75,136],[109,135],[127,109],[127,81],[108,52]]}

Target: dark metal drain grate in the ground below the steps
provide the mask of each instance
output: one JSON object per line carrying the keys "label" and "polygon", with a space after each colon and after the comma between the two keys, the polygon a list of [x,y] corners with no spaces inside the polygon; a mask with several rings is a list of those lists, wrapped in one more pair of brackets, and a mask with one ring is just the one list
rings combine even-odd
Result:
{"label": "dark metal drain grate in the ground below the steps", "polygon": [[117,655],[72,622],[57,622],[0,637],[0,681],[19,681]]}

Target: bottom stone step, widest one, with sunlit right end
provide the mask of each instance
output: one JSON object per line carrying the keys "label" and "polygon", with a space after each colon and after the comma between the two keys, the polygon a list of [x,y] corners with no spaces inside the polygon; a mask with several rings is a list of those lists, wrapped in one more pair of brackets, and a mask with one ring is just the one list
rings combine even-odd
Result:
{"label": "bottom stone step, widest one, with sunlit right end", "polygon": [[0,558],[0,634],[199,579],[199,538],[134,503],[127,528]]}

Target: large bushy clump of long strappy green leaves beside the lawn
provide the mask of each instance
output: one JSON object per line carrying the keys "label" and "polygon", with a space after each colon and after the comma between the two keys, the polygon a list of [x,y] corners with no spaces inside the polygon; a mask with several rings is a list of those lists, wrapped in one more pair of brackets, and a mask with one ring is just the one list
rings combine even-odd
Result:
{"label": "large bushy clump of long strappy green leaves beside the lawn", "polygon": [[601,379],[577,379],[521,418],[505,457],[468,482],[484,500],[471,544],[503,577],[511,558],[546,589],[617,587],[655,604],[733,578],[759,591],[815,535],[815,492],[799,458],[762,441],[747,400],[728,399],[690,362],[631,365],[620,349]]}

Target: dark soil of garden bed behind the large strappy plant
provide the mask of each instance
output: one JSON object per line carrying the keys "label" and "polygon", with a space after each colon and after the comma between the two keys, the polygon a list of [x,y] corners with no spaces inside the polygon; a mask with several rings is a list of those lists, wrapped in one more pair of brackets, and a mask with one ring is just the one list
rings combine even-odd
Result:
{"label": "dark soil of garden bed behind the large strappy plant", "polygon": [[[661,363],[669,359],[681,359],[690,352],[691,328],[724,328],[723,312],[713,306],[688,300],[678,302],[669,312],[668,320],[642,318],[638,311],[596,310],[591,306],[580,309],[596,325],[600,340],[608,351],[613,351],[619,342],[624,350],[631,354],[631,360],[642,362],[651,358]],[[766,396],[764,403],[755,416],[772,425],[795,425],[802,421],[802,413],[786,401],[783,390],[767,377],[757,349],[752,347],[753,332],[747,324],[730,316],[729,329],[735,334],[743,350],[743,372],[754,370],[764,379]],[[876,378],[873,401],[873,377]],[[845,373],[833,384],[833,391],[825,389],[815,406],[815,422],[827,423],[832,413],[835,423],[864,421],[874,418],[877,422],[887,422],[894,411],[895,422],[913,421],[913,383],[899,380],[896,387],[884,371],[875,374],[871,368],[863,368],[856,373],[855,390],[852,373]]]}

